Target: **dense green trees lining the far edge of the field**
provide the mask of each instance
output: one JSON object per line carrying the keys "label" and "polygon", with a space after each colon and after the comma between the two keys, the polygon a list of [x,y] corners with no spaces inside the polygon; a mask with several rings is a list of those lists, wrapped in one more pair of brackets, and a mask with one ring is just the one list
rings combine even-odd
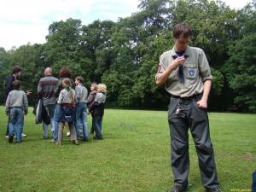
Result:
{"label": "dense green trees lining the far edge of the field", "polygon": [[204,49],[212,67],[210,108],[256,110],[255,4],[235,10],[221,1],[141,0],[139,9],[117,22],[57,21],[45,44],[0,49],[1,89],[15,64],[24,68],[23,88],[33,93],[44,67],[56,76],[61,67],[70,67],[87,87],[91,81],[107,84],[109,106],[164,108],[168,96],[154,83],[156,67],[161,53],[172,49],[172,27],[187,22],[193,28],[190,45]]}

